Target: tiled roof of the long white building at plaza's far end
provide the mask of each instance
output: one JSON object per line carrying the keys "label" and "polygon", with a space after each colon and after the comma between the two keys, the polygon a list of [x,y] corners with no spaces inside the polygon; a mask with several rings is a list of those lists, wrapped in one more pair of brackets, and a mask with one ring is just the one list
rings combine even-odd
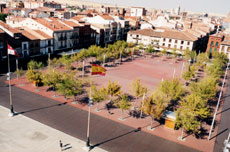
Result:
{"label": "tiled roof of the long white building at plaza's far end", "polygon": [[130,34],[139,34],[150,37],[163,37],[163,38],[171,38],[177,40],[185,40],[185,41],[194,41],[197,38],[188,32],[176,31],[176,30],[163,30],[156,31],[152,29],[142,29],[137,31],[130,31]]}

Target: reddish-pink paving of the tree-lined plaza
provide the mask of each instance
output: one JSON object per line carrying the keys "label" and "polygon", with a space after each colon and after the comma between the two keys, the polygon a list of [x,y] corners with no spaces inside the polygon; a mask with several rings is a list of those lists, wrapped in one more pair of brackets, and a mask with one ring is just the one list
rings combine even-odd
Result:
{"label": "reddish-pink paving of the tree-lined plaza", "polygon": [[[173,76],[174,68],[176,70],[175,76],[178,78],[181,78],[181,70],[182,70],[182,63],[185,61],[179,61],[178,63],[175,63],[174,59],[167,59],[162,60],[162,58],[166,57],[155,57],[155,58],[137,58],[132,62],[125,62],[122,65],[118,65],[117,67],[111,67],[106,68],[108,71],[106,73],[106,76],[97,76],[94,77],[93,80],[98,84],[98,86],[106,85],[107,81],[110,79],[111,81],[118,81],[120,85],[122,85],[122,91],[125,93],[130,93],[130,85],[132,80],[135,80],[136,78],[140,78],[141,81],[151,90],[152,92],[156,86],[159,84],[159,82],[162,80],[162,78],[165,79],[171,79]],[[184,66],[185,70],[185,66]],[[19,84],[23,83],[24,86],[20,86]],[[73,99],[64,99],[63,96],[59,96],[57,98],[54,98],[54,92],[50,91],[47,92],[47,87],[39,87],[39,92],[36,91],[36,87],[32,85],[32,83],[29,83],[25,77],[20,78],[19,80],[14,79],[12,80],[12,84],[15,84],[17,87],[23,88],[25,90],[31,91],[33,93],[40,94],[42,96],[60,101],[60,102],[68,102],[69,105],[83,109],[88,110],[88,106],[85,104],[72,104],[71,102]],[[44,101],[45,102],[45,101]],[[186,145],[188,147],[195,148],[200,151],[210,152],[214,149],[214,143],[215,138],[207,141],[207,136],[204,137],[204,139],[196,139],[193,135],[189,135],[186,137],[186,141],[182,142],[179,141],[177,138],[181,135],[181,130],[170,130],[165,128],[163,125],[159,125],[158,122],[154,122],[155,130],[150,131],[147,129],[147,126],[150,125],[150,117],[146,117],[144,119],[136,119],[133,117],[130,117],[128,115],[128,111],[125,111],[124,117],[126,118],[124,121],[119,120],[121,116],[121,111],[119,109],[112,109],[111,112],[112,115],[108,113],[105,107],[105,103],[107,101],[104,101],[100,103],[100,112],[96,112],[96,105],[92,107],[92,112],[94,114],[100,115],[102,117],[114,120],[116,122],[138,128],[142,127],[142,130],[145,132],[148,132],[150,134],[154,134],[157,136],[160,136],[162,138],[165,138],[167,140],[174,141],[179,144]],[[140,102],[140,101],[139,101]],[[221,108],[219,109],[221,111]],[[217,115],[217,120],[220,120],[220,115]],[[92,124],[93,127],[93,124]],[[206,128],[209,131],[209,126]],[[213,132],[213,135],[216,135],[217,133],[217,127],[215,128],[215,131]]]}

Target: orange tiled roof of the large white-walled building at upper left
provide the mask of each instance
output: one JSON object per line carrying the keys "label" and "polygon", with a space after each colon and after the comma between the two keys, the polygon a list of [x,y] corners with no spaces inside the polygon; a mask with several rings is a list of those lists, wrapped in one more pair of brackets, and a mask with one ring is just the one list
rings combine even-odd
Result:
{"label": "orange tiled roof of the large white-walled building at upper left", "polygon": [[47,28],[53,30],[53,31],[66,31],[66,30],[71,30],[68,26],[60,23],[57,20],[52,20],[52,19],[44,19],[44,18],[35,18],[33,19],[36,22],[46,26]]}

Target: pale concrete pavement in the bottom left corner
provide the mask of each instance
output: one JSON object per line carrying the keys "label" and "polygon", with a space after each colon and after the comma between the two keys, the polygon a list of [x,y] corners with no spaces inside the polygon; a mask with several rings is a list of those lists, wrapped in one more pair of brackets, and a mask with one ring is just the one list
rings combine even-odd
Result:
{"label": "pale concrete pavement in the bottom left corner", "polygon": [[[9,109],[0,106],[1,152],[86,152],[85,142],[23,115],[8,116]],[[92,152],[105,152],[94,148]]]}

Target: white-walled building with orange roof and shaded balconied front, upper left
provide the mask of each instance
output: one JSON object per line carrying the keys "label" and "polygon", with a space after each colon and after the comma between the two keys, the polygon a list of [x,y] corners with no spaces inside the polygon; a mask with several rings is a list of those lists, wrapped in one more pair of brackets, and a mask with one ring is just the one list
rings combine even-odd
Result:
{"label": "white-walled building with orange roof and shaded balconied front, upper left", "polygon": [[26,26],[32,30],[40,30],[53,38],[53,51],[71,50],[78,41],[79,31],[61,23],[56,18],[24,18],[17,21],[7,19],[7,24],[13,27]]}

